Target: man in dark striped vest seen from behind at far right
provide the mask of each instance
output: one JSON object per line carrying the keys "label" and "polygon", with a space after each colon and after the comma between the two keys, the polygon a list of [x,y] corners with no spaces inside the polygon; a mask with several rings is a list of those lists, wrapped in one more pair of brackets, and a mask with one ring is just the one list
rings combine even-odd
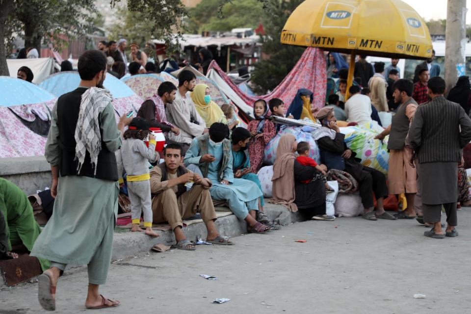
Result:
{"label": "man in dark striped vest seen from behind at far right", "polygon": [[[409,131],[409,141],[419,157],[423,219],[434,227],[424,233],[433,238],[457,236],[456,200],[458,163],[462,149],[471,140],[471,120],[458,104],[447,101],[445,80],[428,81],[431,101],[418,107]],[[442,231],[442,206],[446,232]]]}

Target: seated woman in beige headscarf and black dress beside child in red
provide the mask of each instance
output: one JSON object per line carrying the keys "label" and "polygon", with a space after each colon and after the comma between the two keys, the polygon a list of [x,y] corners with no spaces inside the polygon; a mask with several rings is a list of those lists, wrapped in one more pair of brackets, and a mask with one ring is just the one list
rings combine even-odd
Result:
{"label": "seated woman in beige headscarf and black dress beside child in red", "polygon": [[299,211],[306,219],[334,220],[325,214],[325,186],[322,180],[311,181],[315,168],[304,166],[296,160],[297,146],[292,134],[284,134],[278,142],[273,165],[273,199],[271,203],[286,206],[290,211]]}

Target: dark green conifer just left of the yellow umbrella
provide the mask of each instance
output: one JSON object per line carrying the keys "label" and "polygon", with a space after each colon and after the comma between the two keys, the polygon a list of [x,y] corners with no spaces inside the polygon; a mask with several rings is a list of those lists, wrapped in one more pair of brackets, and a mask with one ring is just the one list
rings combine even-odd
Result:
{"label": "dark green conifer just left of the yellow umbrella", "polygon": [[261,37],[262,52],[267,58],[254,65],[251,78],[257,93],[265,94],[278,86],[306,49],[280,43],[280,34],[289,15],[301,2],[303,0],[269,0],[271,14],[265,15],[263,19],[266,36]]}

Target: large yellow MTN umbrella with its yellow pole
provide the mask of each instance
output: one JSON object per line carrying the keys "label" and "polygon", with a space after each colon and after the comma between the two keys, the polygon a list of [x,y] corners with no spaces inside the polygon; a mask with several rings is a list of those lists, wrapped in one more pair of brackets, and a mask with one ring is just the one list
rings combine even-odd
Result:
{"label": "large yellow MTN umbrella with its yellow pole", "polygon": [[289,16],[281,43],[350,53],[348,87],[353,82],[356,54],[409,59],[432,56],[428,27],[400,0],[306,0]]}

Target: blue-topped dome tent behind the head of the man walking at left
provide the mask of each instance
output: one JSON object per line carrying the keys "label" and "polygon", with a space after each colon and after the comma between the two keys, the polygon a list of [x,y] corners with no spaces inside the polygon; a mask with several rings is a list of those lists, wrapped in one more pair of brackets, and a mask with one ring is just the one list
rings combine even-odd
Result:
{"label": "blue-topped dome tent behind the head of the man walking at left", "polygon": [[[59,97],[75,90],[79,83],[80,76],[78,72],[66,71],[49,76],[40,82],[39,86]],[[131,110],[137,112],[140,108],[143,102],[142,98],[118,78],[108,74],[103,85],[113,96],[113,107],[117,118]]]}

